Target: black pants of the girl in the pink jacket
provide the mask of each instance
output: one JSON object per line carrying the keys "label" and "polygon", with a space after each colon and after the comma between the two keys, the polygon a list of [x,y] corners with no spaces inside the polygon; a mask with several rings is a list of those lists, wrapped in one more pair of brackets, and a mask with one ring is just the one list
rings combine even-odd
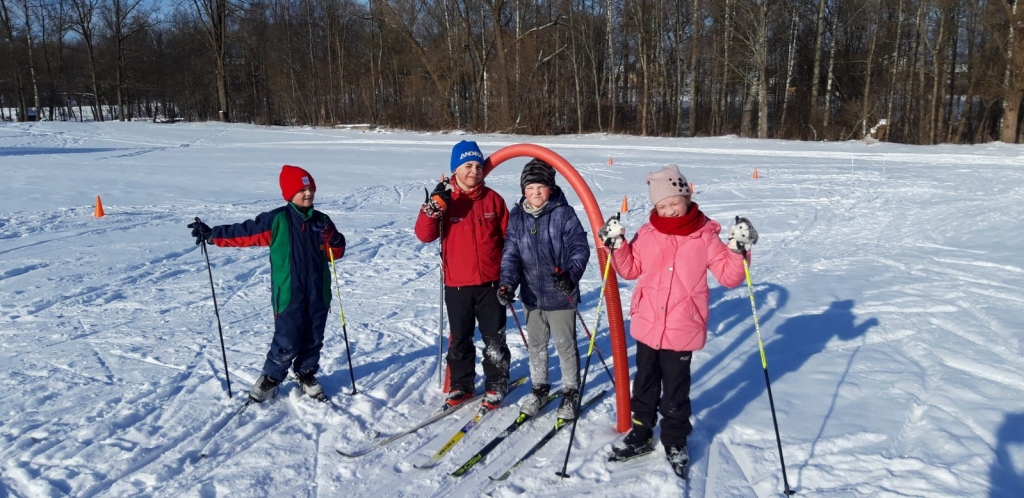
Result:
{"label": "black pants of the girl in the pink jacket", "polygon": [[637,342],[637,374],[633,378],[633,417],[654,427],[662,412],[662,444],[686,446],[690,424],[691,351],[654,349]]}

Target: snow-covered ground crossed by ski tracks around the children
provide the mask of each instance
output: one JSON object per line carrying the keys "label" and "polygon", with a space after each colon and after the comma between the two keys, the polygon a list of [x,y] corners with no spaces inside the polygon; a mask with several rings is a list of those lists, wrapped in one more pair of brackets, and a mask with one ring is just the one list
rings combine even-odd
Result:
{"label": "snow-covered ground crossed by ski tracks around the children", "polygon": [[[1021,496],[1021,146],[469,137],[485,154],[515,142],[559,153],[605,215],[628,197],[631,234],[651,207],[643,175],[673,162],[709,216],[726,226],[735,215],[753,220],[755,298],[797,496]],[[525,388],[434,469],[413,464],[468,410],[361,458],[336,453],[409,426],[442,399],[437,248],[419,243],[413,223],[423,188],[447,172],[461,138],[0,124],[0,497],[779,495],[748,290],[714,281],[709,343],[693,361],[688,483],[660,447],[605,461],[621,437],[610,396],[579,424],[570,479],[554,473],[567,432],[507,482],[487,479],[550,426],[553,406],[466,476],[447,475],[515,417]],[[510,203],[525,161],[487,179]],[[337,409],[287,382],[273,402],[231,418],[271,335],[267,252],[210,250],[237,396],[228,400],[206,261],[185,224],[242,221],[282,204],[286,163],[313,174],[317,208],[348,237],[338,274],[359,392],[346,395],[335,313],[322,380]],[[105,217],[92,216],[96,196]],[[596,258],[582,284],[591,324],[595,266]],[[621,282],[626,305],[632,286]],[[601,322],[598,345],[610,357]],[[509,327],[512,374],[526,375],[525,348]],[[611,388],[596,361],[590,374],[589,391]]]}

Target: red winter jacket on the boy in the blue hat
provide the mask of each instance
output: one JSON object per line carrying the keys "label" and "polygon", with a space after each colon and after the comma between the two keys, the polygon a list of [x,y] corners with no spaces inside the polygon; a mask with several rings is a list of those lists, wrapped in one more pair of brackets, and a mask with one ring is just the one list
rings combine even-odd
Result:
{"label": "red winter jacket on the boy in the blue hat", "polygon": [[445,286],[480,285],[501,278],[509,210],[498,193],[484,185],[480,189],[472,193],[476,199],[471,199],[456,188],[441,217],[431,218],[421,210],[416,218],[416,238],[420,242],[436,241],[444,232],[441,263]]}

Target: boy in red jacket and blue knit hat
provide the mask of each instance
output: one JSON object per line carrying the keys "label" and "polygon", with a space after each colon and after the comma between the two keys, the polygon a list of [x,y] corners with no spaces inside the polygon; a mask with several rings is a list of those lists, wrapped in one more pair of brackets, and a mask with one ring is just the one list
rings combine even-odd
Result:
{"label": "boy in red jacket and blue knit hat", "polygon": [[441,240],[451,327],[450,406],[473,396],[476,325],[484,344],[484,406],[497,407],[508,390],[511,354],[505,343],[505,306],[497,294],[508,219],[505,200],[483,184],[480,148],[475,141],[460,141],[452,149],[452,177],[437,183],[416,219],[421,242]]}

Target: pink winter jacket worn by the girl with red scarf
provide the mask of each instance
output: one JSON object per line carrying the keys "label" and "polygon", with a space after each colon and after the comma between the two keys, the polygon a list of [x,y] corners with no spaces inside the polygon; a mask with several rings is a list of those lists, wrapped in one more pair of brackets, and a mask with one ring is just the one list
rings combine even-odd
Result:
{"label": "pink winter jacket worn by the girl with red scarf", "polygon": [[[640,280],[630,303],[630,334],[654,349],[693,351],[708,340],[708,271],[733,288],[744,280],[743,258],[708,222],[688,236],[666,235],[645,223],[627,247],[614,251],[615,272]],[[748,257],[750,252],[748,252]]]}

